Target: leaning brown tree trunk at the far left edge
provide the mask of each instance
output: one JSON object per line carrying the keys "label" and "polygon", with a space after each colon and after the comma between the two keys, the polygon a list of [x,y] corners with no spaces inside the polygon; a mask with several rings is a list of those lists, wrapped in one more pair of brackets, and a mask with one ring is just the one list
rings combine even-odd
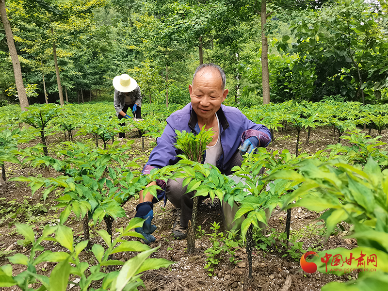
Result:
{"label": "leaning brown tree trunk at the far left edge", "polygon": [[5,9],[5,0],[0,0],[0,15],[1,21],[4,25],[5,35],[7,37],[7,44],[9,53],[11,55],[12,65],[14,67],[16,90],[17,96],[19,97],[20,107],[22,111],[27,111],[28,99],[26,94],[26,88],[23,84],[23,76],[21,74],[19,57],[17,56],[17,51],[15,47],[14,35],[11,30],[11,25],[8,21],[7,10]]}

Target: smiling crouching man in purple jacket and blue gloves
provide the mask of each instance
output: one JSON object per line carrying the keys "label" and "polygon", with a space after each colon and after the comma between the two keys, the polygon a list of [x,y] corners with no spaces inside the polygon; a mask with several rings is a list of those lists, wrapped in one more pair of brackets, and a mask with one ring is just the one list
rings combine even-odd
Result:
{"label": "smiling crouching man in purple jacket and blue gloves", "polygon": [[[237,108],[222,105],[228,93],[225,83],[225,73],[218,65],[204,64],[195,70],[193,82],[189,85],[191,103],[167,118],[167,126],[149,156],[143,169],[144,174],[148,174],[153,168],[178,162],[178,150],[174,146],[176,129],[198,133],[203,126],[205,129],[212,128],[214,135],[207,146],[204,162],[215,165],[225,175],[231,174],[233,166],[241,165],[242,154],[249,153],[258,146],[268,146],[271,133],[265,126],[252,122]],[[184,239],[192,216],[194,192],[185,194],[186,187],[182,187],[182,179],[168,180],[167,183],[155,181],[149,185],[159,185],[164,191],[158,193],[158,199],[150,193],[143,197],[143,191],[140,192],[135,217],[146,221],[143,227],[135,230],[144,235],[146,243],[155,241],[155,237],[151,235],[156,229],[151,224],[153,202],[162,199],[166,201],[167,198],[181,209],[180,217],[172,229],[173,236]]]}

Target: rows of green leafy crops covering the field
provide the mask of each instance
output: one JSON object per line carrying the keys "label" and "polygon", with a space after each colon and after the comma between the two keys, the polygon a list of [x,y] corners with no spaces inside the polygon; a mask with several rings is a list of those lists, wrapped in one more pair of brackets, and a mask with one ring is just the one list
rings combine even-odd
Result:
{"label": "rows of green leafy crops covering the field", "polygon": [[[128,121],[145,134],[158,137],[165,126],[166,117],[176,108],[144,105],[144,122]],[[375,254],[378,258],[378,271],[359,275],[353,285],[330,283],[326,290],[363,290],[371,282],[380,288],[388,287],[388,153],[386,144],[379,137],[372,138],[356,126],[374,128],[381,132],[388,125],[386,106],[363,107],[359,103],[296,103],[285,102],[257,108],[242,109],[252,120],[265,124],[272,132],[292,126],[299,134],[302,130],[319,130],[320,126],[332,126],[347,146],[329,145],[325,150],[313,155],[293,154],[292,150],[270,152],[260,148],[256,153],[245,157],[235,175],[243,178],[245,184],[236,183],[222,175],[216,168],[191,161],[187,157],[174,166],[155,169],[149,175],[141,176],[141,165],[136,159],[129,159],[131,140],[119,146],[114,137],[122,128],[118,125],[112,104],[96,103],[88,105],[65,105],[64,108],[49,104],[31,107],[27,112],[17,112],[16,108],[3,108],[1,111],[0,163],[5,180],[5,162],[20,163],[23,166],[46,167],[60,176],[16,177],[11,180],[28,182],[32,194],[42,191],[46,199],[52,193],[61,193],[57,207],[61,209],[58,226],[47,226],[38,237],[30,226],[18,224],[17,230],[32,243],[30,256],[16,254],[10,257],[12,264],[23,264],[27,270],[12,275],[12,265],[1,267],[0,286],[19,286],[22,290],[34,290],[29,284],[39,281],[42,285],[36,290],[65,290],[70,276],[76,275],[81,281],[81,290],[92,290],[92,282],[103,279],[98,290],[135,290],[142,284],[140,273],[166,267],[171,262],[163,259],[149,259],[156,251],[136,241],[123,241],[124,236],[140,237],[132,228],[141,226],[142,221],[132,219],[125,229],[119,229],[118,237],[112,237],[112,222],[124,217],[123,205],[152,180],[186,178],[188,191],[198,195],[218,197],[231,206],[237,203],[240,210],[236,219],[242,216],[242,237],[246,238],[248,260],[252,258],[253,233],[259,233],[259,223],[267,224],[268,213],[276,205],[291,213],[292,207],[303,206],[313,211],[324,211],[326,235],[342,221],[354,225],[350,235],[358,240],[354,250]],[[30,125],[30,126],[26,126]],[[343,133],[345,133],[342,135]],[[55,152],[49,152],[48,136],[63,134],[67,141],[62,142]],[[74,134],[74,135],[73,135]],[[95,145],[74,142],[73,136],[93,137]],[[182,137],[181,143],[184,143]],[[20,146],[33,139],[41,141],[36,146]],[[98,146],[98,141],[100,145]],[[102,142],[102,143],[101,143]],[[23,147],[23,149],[22,149]],[[266,168],[260,178],[259,171]],[[270,185],[270,189],[266,186]],[[158,186],[149,191],[156,195]],[[248,195],[249,194],[249,195]],[[294,203],[296,202],[296,203]],[[70,228],[64,226],[71,213],[83,222],[84,241],[75,244]],[[95,227],[102,221],[106,230],[98,234],[106,243],[90,244],[89,224]],[[290,224],[285,232],[289,235]],[[55,233],[55,236],[52,234]],[[288,238],[288,237],[287,237]],[[65,247],[67,252],[44,250],[43,240],[54,240]],[[98,264],[80,261],[79,254],[90,248]],[[36,252],[41,252],[36,256]],[[117,252],[140,252],[136,257],[122,262],[112,259]],[[319,253],[342,254],[344,249],[327,250]],[[148,258],[148,259],[147,259]],[[40,262],[58,262],[50,276],[39,275],[35,266]],[[325,272],[324,261],[315,261],[320,272]],[[71,264],[71,265],[70,265]],[[326,262],[327,264],[327,262]],[[353,264],[353,265],[352,265]],[[123,265],[120,271],[107,268]],[[357,267],[357,261],[351,266]],[[247,268],[248,277],[252,274],[251,261]],[[85,273],[85,270],[90,270]],[[55,271],[55,272],[54,272]],[[338,274],[340,272],[337,272]],[[343,273],[343,272],[342,272]],[[88,274],[88,275],[85,275]],[[60,280],[61,279],[61,280]],[[59,286],[59,282],[62,285]]]}

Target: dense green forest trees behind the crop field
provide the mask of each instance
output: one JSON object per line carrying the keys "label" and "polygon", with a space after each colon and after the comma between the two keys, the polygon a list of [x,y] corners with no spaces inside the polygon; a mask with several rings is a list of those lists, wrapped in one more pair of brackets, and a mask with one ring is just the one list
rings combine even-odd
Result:
{"label": "dense green forest trees behind the crop field", "polygon": [[[5,6],[30,104],[44,103],[45,91],[47,102],[59,103],[60,91],[68,102],[113,100],[112,79],[123,73],[139,83],[143,102],[185,104],[202,62],[224,68],[227,105],[260,104],[263,91],[270,92],[264,103],[388,101],[387,0],[7,0]],[[0,26],[0,104],[16,102]]]}

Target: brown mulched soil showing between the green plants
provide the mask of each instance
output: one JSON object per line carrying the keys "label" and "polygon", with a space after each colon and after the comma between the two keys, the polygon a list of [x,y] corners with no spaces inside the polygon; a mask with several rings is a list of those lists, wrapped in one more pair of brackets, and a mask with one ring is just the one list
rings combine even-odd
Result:
{"label": "brown mulched soil showing between the green plants", "polygon": [[[383,142],[388,142],[386,131],[383,131]],[[377,131],[372,130],[372,136],[377,135]],[[155,140],[151,138],[144,138],[145,149],[142,149],[142,139],[138,137],[138,132],[134,130],[128,135],[128,138],[134,139],[135,143],[132,145],[131,152],[133,158],[141,157],[140,162],[143,165],[147,161],[147,157],[155,146]],[[300,139],[301,151],[307,153],[314,153],[317,150],[324,149],[326,145],[336,144],[338,142],[338,135],[332,137],[331,128],[319,128],[311,132],[310,143],[305,143],[306,134],[302,132]],[[58,143],[63,141],[64,136],[62,134],[56,134],[48,137],[49,153],[53,153],[58,146]],[[92,137],[76,137],[76,140],[86,141],[89,144],[93,144]],[[38,140],[30,143],[26,146],[39,143]],[[122,142],[123,143],[123,142]],[[271,143],[268,147],[269,150],[283,150],[289,149],[291,153],[295,152],[296,144],[296,130],[288,128],[283,133],[275,133],[275,142]],[[343,142],[343,144],[346,144]],[[100,145],[101,146],[101,145]],[[16,164],[6,163],[6,175],[7,179],[18,176],[34,176],[38,175],[46,177],[56,177],[59,174],[50,170],[47,173],[44,167],[30,168],[21,167]],[[18,240],[22,239],[22,236],[16,234],[16,228],[14,224],[30,223],[34,226],[36,234],[39,235],[42,232],[43,226],[47,224],[55,224],[59,221],[60,210],[54,208],[56,202],[53,199],[60,196],[60,193],[50,194],[46,203],[42,200],[42,191],[38,191],[35,195],[31,195],[31,189],[28,187],[28,183],[7,181],[1,184],[0,194],[0,265],[8,264],[7,256],[12,256],[15,253],[24,253],[29,255],[29,247],[18,243]],[[115,227],[125,227],[129,218],[134,217],[135,208],[138,201],[131,199],[124,206],[127,212],[128,218],[117,219],[113,223]],[[274,213],[277,212],[274,210]],[[220,254],[220,263],[214,267],[214,273],[209,276],[209,272],[204,269],[206,264],[206,254],[204,251],[210,248],[211,243],[209,241],[209,234],[212,233],[210,229],[210,223],[217,222],[220,224],[220,230],[223,230],[221,207],[219,200],[215,200],[214,203],[210,199],[205,200],[199,206],[198,225],[204,230],[204,235],[196,239],[195,247],[196,251],[192,255],[187,254],[187,242],[186,240],[178,241],[174,240],[171,236],[171,227],[176,220],[178,210],[171,203],[167,203],[164,206],[162,203],[155,205],[154,207],[154,220],[153,223],[158,226],[154,235],[156,242],[150,244],[151,247],[160,245],[159,250],[151,255],[151,258],[164,258],[174,261],[175,263],[169,268],[162,268],[160,270],[151,270],[144,273],[142,279],[144,280],[146,290],[159,291],[159,290],[226,290],[226,291],[242,291],[246,290],[282,290],[282,291],[308,291],[308,290],[321,290],[321,287],[331,281],[348,281],[354,280],[357,277],[357,273],[349,273],[342,276],[328,275],[316,272],[314,274],[307,274],[303,272],[299,265],[299,258],[292,258],[285,252],[285,249],[280,246],[280,242],[277,241],[274,245],[269,245],[266,251],[261,248],[254,248],[253,255],[253,274],[252,282],[246,283],[246,253],[244,247],[235,248],[235,260],[237,263],[229,262],[230,255]],[[348,249],[356,247],[356,240],[344,240],[342,239],[343,233],[339,232],[338,235],[330,236],[327,242],[324,241],[324,237],[319,235],[319,230],[322,225],[315,226],[318,220],[319,214],[313,211],[308,211],[304,208],[296,208],[292,210],[291,214],[291,237],[297,238],[297,241],[304,242],[303,249],[307,249],[309,246],[315,250],[327,250],[336,247],[345,247]],[[269,228],[267,234],[282,233],[284,232],[286,221],[286,212],[280,212],[277,215],[273,215],[269,221]],[[82,224],[74,216],[70,216],[65,223],[73,229],[75,240],[81,241],[83,236]],[[349,226],[343,223],[344,228],[347,230]],[[96,230],[105,228],[104,222],[97,227],[92,227],[91,241],[93,243],[100,243],[104,245],[101,238],[98,236]],[[113,231],[113,236],[114,236]],[[136,238],[135,238],[136,240]],[[64,251],[64,249],[54,242],[46,241],[43,243],[45,249],[52,251]],[[133,257],[134,253],[118,253],[115,254],[114,259],[127,260]],[[301,255],[301,254],[300,254]],[[297,257],[298,255],[295,255]],[[89,264],[96,262],[94,255],[91,251],[82,252],[81,260],[88,261]],[[37,265],[38,274],[48,275],[55,267],[55,263],[41,263]],[[14,265],[14,275],[25,270],[22,265]],[[96,282],[94,288],[98,288],[100,282]],[[34,284],[34,288],[38,285]],[[245,288],[244,288],[245,287]],[[140,288],[142,289],[142,288]],[[17,287],[2,288],[3,291],[17,291],[20,290]],[[72,291],[79,290],[77,286],[71,289]]]}

